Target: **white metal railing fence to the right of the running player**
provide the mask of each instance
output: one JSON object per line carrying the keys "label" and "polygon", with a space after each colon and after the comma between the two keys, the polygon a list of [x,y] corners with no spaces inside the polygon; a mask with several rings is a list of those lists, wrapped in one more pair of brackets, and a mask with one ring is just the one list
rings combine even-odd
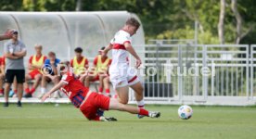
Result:
{"label": "white metal railing fence to the right of the running player", "polygon": [[255,47],[147,44],[138,52],[145,57],[145,99],[153,104],[254,105]]}

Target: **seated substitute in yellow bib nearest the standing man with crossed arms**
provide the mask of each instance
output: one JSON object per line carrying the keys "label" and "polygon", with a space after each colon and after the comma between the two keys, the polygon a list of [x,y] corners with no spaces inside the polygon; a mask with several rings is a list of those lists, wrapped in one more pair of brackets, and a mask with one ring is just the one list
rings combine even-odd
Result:
{"label": "seated substitute in yellow bib nearest the standing man with crossed arms", "polygon": [[[36,88],[41,82],[43,76],[41,68],[43,67],[46,59],[46,57],[42,54],[43,46],[41,44],[35,44],[34,49],[36,54],[30,57],[28,66],[29,72],[25,75],[24,87],[26,95],[24,95],[24,97],[26,98],[32,97],[32,94],[35,92]],[[34,80],[31,89],[28,84],[30,80]]]}

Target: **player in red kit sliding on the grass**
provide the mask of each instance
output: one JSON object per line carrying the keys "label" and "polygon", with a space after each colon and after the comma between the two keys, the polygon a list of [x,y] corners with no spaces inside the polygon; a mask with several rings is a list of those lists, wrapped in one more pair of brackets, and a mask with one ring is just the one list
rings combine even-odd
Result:
{"label": "player in red kit sliding on the grass", "polygon": [[101,120],[111,121],[116,120],[114,118],[105,118],[97,114],[97,110],[120,110],[130,112],[132,114],[139,114],[151,118],[159,118],[160,112],[147,111],[144,108],[132,107],[123,105],[115,98],[109,98],[105,95],[99,95],[96,92],[92,92],[89,88],[84,87],[83,83],[77,79],[70,71],[68,61],[61,62],[60,66],[61,81],[58,82],[48,93],[42,97],[44,102],[52,93],[60,89],[63,93],[69,96],[71,103],[80,108],[83,115],[88,120]]}

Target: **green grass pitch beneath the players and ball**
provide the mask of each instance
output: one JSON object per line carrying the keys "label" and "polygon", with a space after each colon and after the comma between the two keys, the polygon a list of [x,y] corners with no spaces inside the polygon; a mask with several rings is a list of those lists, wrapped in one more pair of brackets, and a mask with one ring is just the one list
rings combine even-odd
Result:
{"label": "green grass pitch beneath the players and ball", "polygon": [[0,107],[0,139],[249,139],[256,138],[256,107],[193,107],[191,120],[177,117],[178,106],[147,106],[160,119],[109,111],[117,122],[83,118],[71,105],[25,104]]}

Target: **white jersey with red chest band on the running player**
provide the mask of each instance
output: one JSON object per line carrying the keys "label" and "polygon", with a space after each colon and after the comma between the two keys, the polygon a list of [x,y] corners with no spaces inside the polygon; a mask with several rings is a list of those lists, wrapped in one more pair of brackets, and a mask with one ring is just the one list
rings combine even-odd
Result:
{"label": "white jersey with red chest band on the running player", "polygon": [[132,43],[131,35],[123,30],[116,32],[114,38],[110,41],[110,44],[113,44],[111,66],[124,64],[128,66],[128,52],[124,47],[124,43]]}

